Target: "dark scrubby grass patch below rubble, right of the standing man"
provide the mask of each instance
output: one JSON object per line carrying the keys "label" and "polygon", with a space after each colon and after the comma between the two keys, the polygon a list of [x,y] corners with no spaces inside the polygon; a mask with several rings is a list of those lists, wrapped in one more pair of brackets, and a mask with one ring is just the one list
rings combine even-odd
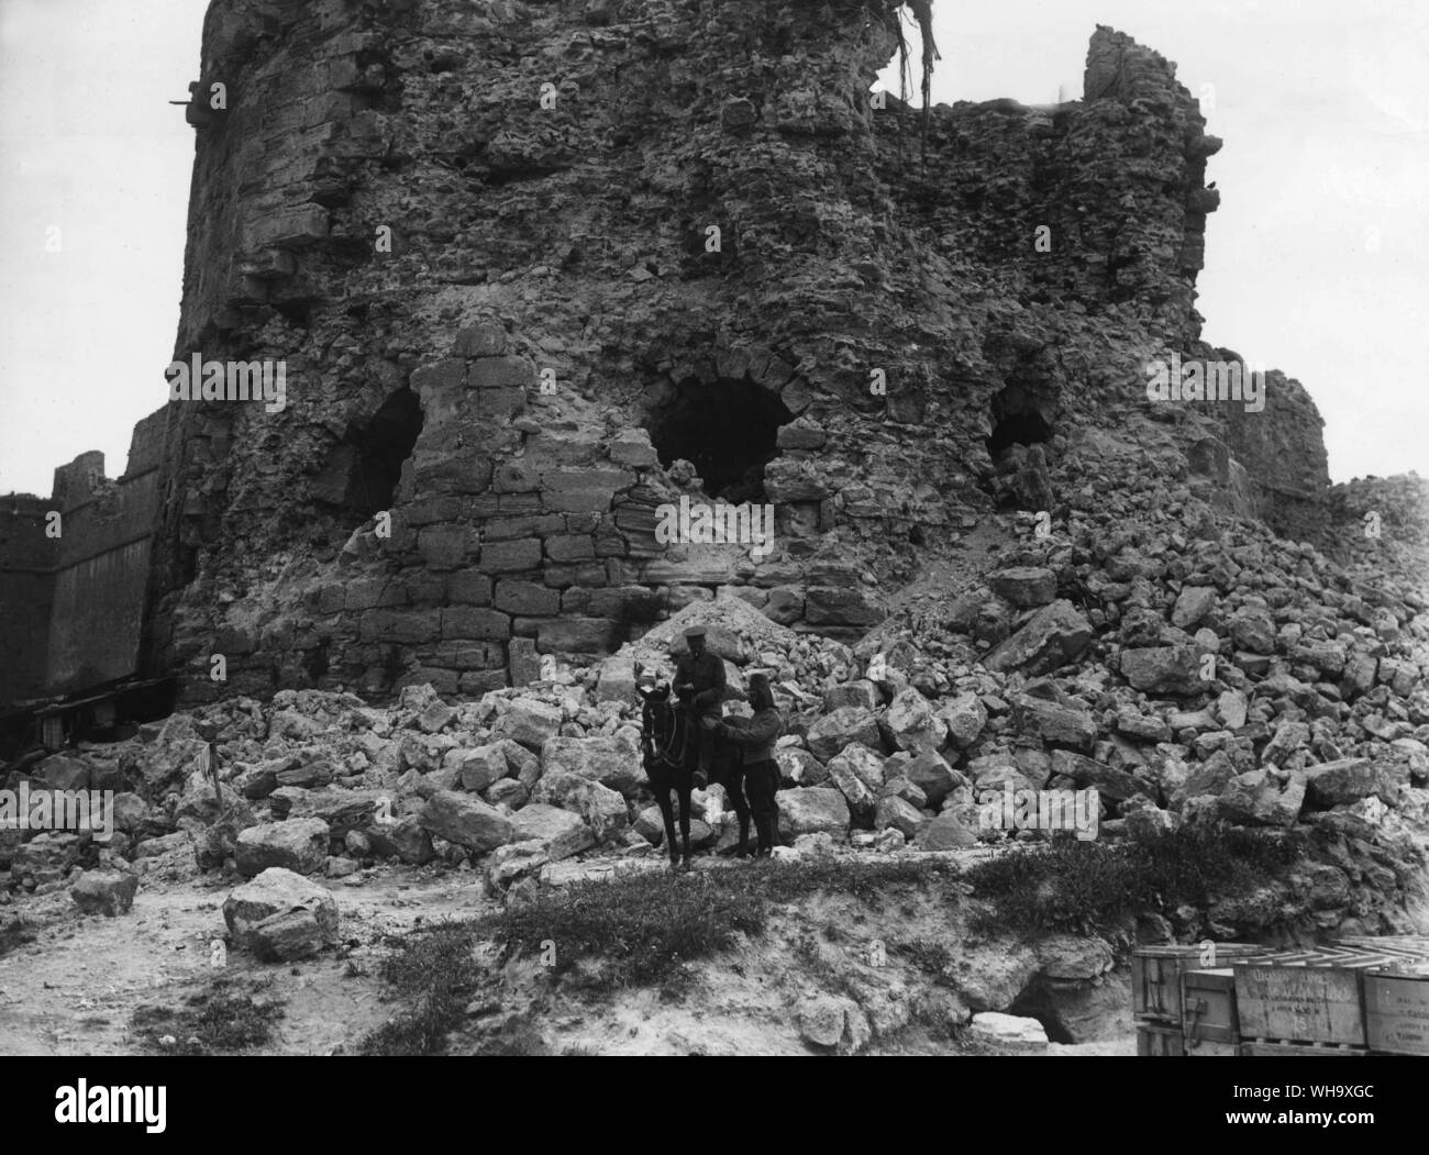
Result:
{"label": "dark scrubby grass patch below rubble, right of the standing man", "polygon": [[1165,831],[1106,845],[1056,838],[1045,849],[1013,851],[967,872],[992,902],[973,929],[1027,936],[1110,931],[1130,916],[1182,903],[1208,906],[1279,878],[1306,853],[1302,835],[1228,826]]}

